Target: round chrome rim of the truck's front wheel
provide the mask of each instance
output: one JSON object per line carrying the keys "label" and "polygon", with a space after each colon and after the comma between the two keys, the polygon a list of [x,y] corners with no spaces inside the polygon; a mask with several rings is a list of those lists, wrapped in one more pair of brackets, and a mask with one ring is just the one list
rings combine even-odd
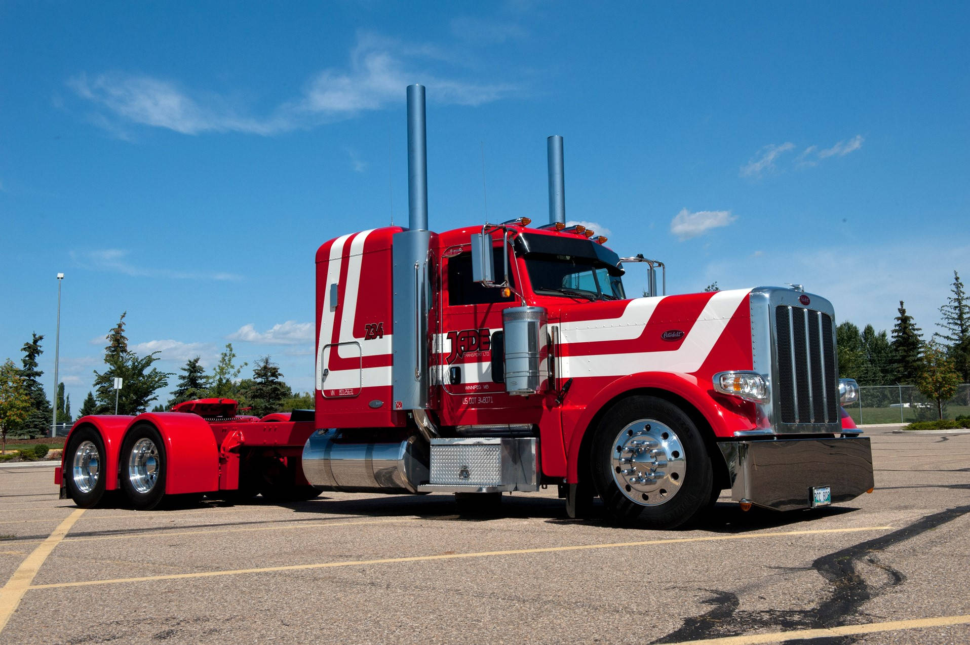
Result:
{"label": "round chrome rim of the truck's front wheel", "polygon": [[687,458],[680,437],[654,419],[639,419],[613,440],[613,481],[627,499],[659,506],[673,499],[684,483]]}

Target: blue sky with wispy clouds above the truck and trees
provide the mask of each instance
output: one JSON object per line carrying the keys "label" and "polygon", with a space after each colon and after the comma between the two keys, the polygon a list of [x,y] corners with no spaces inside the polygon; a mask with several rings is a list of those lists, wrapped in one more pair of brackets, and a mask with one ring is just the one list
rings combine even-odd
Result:
{"label": "blue sky with wispy clouds above the truck and trees", "polygon": [[[127,310],[166,371],[232,341],[313,370],[313,255],[406,222],[427,86],[434,230],[566,216],[670,292],[803,283],[924,332],[970,279],[962,3],[0,4],[0,360],[47,336],[75,410]],[[628,290],[645,279],[630,272]],[[174,382],[175,379],[173,379]]]}

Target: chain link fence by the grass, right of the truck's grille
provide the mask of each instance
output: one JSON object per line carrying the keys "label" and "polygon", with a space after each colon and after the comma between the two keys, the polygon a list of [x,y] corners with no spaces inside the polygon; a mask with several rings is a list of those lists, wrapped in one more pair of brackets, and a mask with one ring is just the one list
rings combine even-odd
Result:
{"label": "chain link fence by the grass, right of the truck's grille", "polygon": [[[864,385],[859,401],[846,408],[857,425],[913,423],[939,418],[936,402],[922,396],[915,385]],[[943,418],[970,415],[970,383],[956,388],[953,399],[943,403]]]}

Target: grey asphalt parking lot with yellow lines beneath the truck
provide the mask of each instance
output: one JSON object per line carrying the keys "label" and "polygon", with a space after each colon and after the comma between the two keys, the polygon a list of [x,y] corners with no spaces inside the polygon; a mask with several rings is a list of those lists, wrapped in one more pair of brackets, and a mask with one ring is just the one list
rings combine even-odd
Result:
{"label": "grey asphalt parking lot with yellow lines beneath the truck", "polygon": [[970,642],[970,435],[868,434],[873,494],[674,532],[553,488],[81,511],[4,466],[0,642]]}

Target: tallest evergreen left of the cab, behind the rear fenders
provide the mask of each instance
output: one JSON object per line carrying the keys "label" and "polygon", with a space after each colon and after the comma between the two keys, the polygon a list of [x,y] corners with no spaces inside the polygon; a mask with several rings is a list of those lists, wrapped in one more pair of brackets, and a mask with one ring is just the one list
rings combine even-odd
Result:
{"label": "tallest evergreen left of the cab, behind the rear fenders", "polygon": [[118,324],[106,337],[105,364],[108,369],[102,373],[94,372],[94,388],[97,393],[98,409],[101,412],[114,411],[114,378],[123,379],[121,390],[117,393],[118,414],[140,414],[148,409],[149,403],[158,399],[156,392],[169,382],[172,374],[152,368],[159,360],[152,352],[139,356],[128,349],[128,339],[124,336],[124,317],[121,314]]}

